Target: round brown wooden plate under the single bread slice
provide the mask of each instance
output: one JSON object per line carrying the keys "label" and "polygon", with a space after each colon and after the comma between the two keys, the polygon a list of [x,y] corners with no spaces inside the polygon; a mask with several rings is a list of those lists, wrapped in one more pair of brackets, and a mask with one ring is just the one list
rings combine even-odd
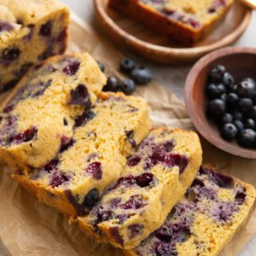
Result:
{"label": "round brown wooden plate under the single bread slice", "polygon": [[195,61],[208,52],[232,44],[246,30],[252,15],[241,1],[236,1],[222,23],[194,47],[181,48],[170,38],[150,32],[136,21],[119,15],[108,8],[108,0],[94,0],[96,17],[106,32],[119,47],[127,47],[150,61],[160,63],[185,63]]}

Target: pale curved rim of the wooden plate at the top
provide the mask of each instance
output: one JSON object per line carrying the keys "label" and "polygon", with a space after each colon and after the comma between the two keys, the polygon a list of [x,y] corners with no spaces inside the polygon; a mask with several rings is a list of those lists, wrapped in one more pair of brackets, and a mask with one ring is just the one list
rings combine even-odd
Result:
{"label": "pale curved rim of the wooden plate at the top", "polygon": [[244,18],[241,21],[241,24],[233,32],[231,32],[230,34],[226,35],[224,38],[213,44],[192,48],[172,48],[144,42],[143,40],[136,38],[128,32],[125,32],[125,30],[120,28],[108,16],[107,12],[105,11],[105,8],[102,5],[102,0],[94,0],[94,3],[96,7],[96,14],[100,16],[101,23],[107,25],[109,29],[116,32],[116,34],[119,35],[119,38],[124,38],[125,42],[131,43],[132,46],[141,47],[148,51],[157,51],[164,55],[175,55],[177,57],[178,55],[188,55],[189,59],[191,59],[191,57],[193,58],[196,56],[204,55],[209,51],[224,47],[234,42],[237,38],[241,36],[242,32],[244,32],[245,29],[247,28],[249,21],[251,20],[253,11],[252,9],[247,8],[246,14],[244,15]]}

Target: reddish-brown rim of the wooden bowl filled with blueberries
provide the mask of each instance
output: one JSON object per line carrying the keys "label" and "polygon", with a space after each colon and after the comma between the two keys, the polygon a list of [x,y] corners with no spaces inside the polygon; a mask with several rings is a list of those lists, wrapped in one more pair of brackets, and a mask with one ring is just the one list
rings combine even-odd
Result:
{"label": "reddish-brown rim of the wooden bowl filled with blueberries", "polygon": [[237,145],[231,144],[229,142],[224,141],[224,139],[220,136],[209,136],[209,131],[204,129],[204,124],[202,119],[200,119],[199,115],[196,112],[195,102],[193,99],[193,89],[195,86],[195,80],[198,75],[201,73],[201,70],[204,67],[207,67],[212,61],[217,60],[220,57],[226,55],[236,55],[236,54],[252,54],[256,55],[256,48],[247,48],[247,47],[225,47],[223,49],[217,49],[211,52],[208,55],[202,57],[199,61],[197,61],[189,72],[189,75],[185,81],[185,104],[189,113],[189,117],[192,120],[193,124],[197,131],[201,133],[203,137],[207,139],[208,142],[212,143],[217,148],[230,153],[236,156],[240,156],[242,158],[248,159],[256,159],[256,149],[247,149],[240,148]]}

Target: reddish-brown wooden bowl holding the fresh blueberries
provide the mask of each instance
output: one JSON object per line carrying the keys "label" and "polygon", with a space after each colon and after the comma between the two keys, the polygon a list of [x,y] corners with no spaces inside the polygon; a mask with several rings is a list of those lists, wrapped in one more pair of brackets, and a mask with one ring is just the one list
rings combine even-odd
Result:
{"label": "reddish-brown wooden bowl holding the fresh blueberries", "polygon": [[190,119],[197,131],[208,142],[230,154],[256,159],[256,148],[242,148],[236,143],[227,142],[217,125],[207,117],[207,96],[205,94],[207,78],[212,67],[221,64],[233,74],[236,81],[250,77],[256,80],[256,48],[228,47],[218,49],[201,58],[189,72],[185,83],[185,102]]}

